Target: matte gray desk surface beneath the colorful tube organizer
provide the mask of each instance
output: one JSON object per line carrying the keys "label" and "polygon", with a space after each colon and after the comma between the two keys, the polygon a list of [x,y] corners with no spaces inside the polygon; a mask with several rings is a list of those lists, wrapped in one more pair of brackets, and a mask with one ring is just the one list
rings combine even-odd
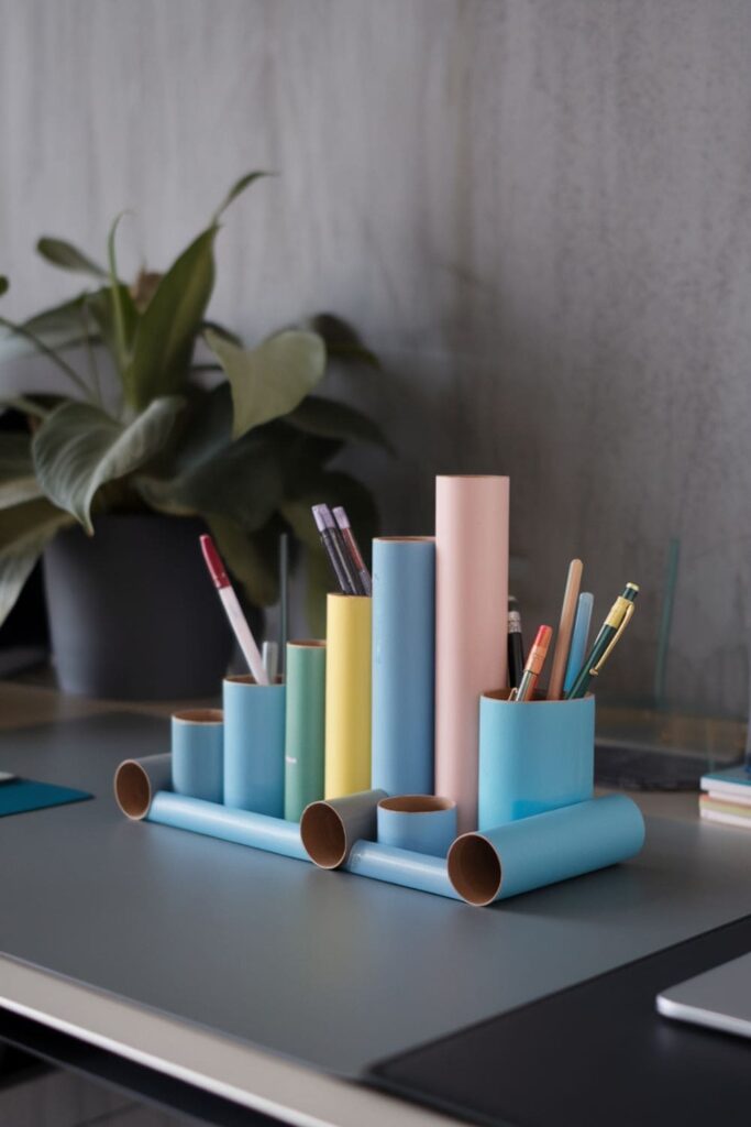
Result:
{"label": "matte gray desk surface beneath the colorful tube organizer", "polygon": [[491,909],[131,824],[116,764],[166,721],[0,735],[0,767],[96,801],[0,822],[0,949],[343,1076],[751,912],[751,836],[651,820],[628,864]]}

